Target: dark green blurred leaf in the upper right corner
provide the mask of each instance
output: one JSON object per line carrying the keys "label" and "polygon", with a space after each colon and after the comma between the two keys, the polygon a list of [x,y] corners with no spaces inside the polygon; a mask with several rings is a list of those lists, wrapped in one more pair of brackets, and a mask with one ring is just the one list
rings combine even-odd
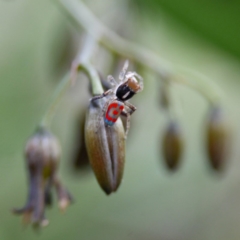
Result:
{"label": "dark green blurred leaf in the upper right corner", "polygon": [[162,11],[179,26],[240,58],[240,2],[238,0],[132,0],[141,12],[162,18]]}

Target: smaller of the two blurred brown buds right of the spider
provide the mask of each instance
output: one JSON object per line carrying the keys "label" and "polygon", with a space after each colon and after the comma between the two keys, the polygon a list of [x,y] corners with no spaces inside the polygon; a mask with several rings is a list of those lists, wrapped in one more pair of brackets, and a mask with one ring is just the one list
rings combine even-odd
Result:
{"label": "smaller of the two blurred brown buds right of the spider", "polygon": [[176,170],[183,151],[183,137],[176,122],[171,121],[166,129],[163,136],[162,151],[168,169]]}

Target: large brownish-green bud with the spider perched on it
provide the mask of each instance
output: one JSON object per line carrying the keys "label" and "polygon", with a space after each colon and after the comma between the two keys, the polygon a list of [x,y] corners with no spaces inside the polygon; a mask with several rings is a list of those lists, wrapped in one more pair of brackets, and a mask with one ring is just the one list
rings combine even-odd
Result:
{"label": "large brownish-green bud with the spider perched on it", "polygon": [[89,160],[99,185],[106,194],[121,183],[125,162],[125,132],[119,118],[107,127],[103,121],[106,99],[90,102],[85,122],[85,140]]}

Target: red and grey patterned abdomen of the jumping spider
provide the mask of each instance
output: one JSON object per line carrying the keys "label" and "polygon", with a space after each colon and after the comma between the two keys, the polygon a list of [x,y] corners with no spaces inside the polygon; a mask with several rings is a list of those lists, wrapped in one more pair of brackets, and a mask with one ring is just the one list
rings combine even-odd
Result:
{"label": "red and grey patterned abdomen of the jumping spider", "polygon": [[124,109],[123,103],[118,101],[111,102],[108,106],[104,122],[107,125],[112,126],[117,121],[123,109]]}

